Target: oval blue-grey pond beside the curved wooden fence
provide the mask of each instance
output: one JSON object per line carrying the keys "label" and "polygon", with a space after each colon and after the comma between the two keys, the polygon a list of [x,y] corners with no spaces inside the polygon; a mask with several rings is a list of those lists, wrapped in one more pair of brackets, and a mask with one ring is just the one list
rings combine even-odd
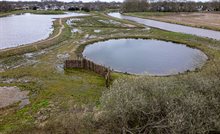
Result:
{"label": "oval blue-grey pond beside the curved wooden fence", "polygon": [[88,45],[83,56],[119,72],[172,75],[201,68],[208,57],[183,44],[153,39],[118,39]]}

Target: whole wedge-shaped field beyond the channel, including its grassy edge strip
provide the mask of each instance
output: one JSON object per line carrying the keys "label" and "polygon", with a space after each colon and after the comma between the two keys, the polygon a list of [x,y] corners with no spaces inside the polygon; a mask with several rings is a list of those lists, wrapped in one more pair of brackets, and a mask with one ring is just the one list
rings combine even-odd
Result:
{"label": "whole wedge-shaped field beyond the channel, including its grassy edge strip", "polygon": [[220,31],[220,14],[218,13],[142,12],[129,13],[128,15]]}

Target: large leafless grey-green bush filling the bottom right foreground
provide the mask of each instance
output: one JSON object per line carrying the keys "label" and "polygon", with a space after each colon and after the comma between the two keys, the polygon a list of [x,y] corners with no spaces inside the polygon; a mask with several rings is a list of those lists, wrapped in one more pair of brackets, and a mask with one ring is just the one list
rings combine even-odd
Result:
{"label": "large leafless grey-green bush filling the bottom right foreground", "polygon": [[94,117],[104,133],[217,133],[219,76],[123,78],[103,93]]}

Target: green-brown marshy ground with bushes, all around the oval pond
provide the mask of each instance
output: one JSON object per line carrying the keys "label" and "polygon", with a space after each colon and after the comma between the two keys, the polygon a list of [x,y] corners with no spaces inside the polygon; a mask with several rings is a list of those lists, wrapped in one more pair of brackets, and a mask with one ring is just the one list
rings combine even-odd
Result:
{"label": "green-brown marshy ground with bushes, all around the oval pond", "polygon": [[[67,20],[72,19],[69,25]],[[58,38],[0,51],[0,86],[29,92],[30,104],[0,109],[0,133],[209,133],[219,132],[220,42],[146,28],[90,12],[62,19]],[[55,21],[54,34],[60,24]],[[77,28],[80,32],[71,32]],[[99,30],[99,32],[95,32]],[[94,42],[144,38],[186,44],[203,51],[201,69],[169,77],[112,74],[104,78],[81,69],[63,70]]]}

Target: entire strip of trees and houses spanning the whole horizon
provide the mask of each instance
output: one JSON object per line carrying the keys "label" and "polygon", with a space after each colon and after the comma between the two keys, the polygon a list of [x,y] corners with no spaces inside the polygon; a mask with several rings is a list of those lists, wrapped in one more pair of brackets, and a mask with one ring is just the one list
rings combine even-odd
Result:
{"label": "entire strip of trees and houses spanning the whole horizon", "polygon": [[[220,0],[210,2],[192,2],[186,0],[125,0],[119,2],[0,2],[0,11],[10,10],[84,10],[104,11],[107,9],[121,9],[122,12],[195,12],[195,11],[220,11]],[[62,8],[61,8],[62,7]]]}

